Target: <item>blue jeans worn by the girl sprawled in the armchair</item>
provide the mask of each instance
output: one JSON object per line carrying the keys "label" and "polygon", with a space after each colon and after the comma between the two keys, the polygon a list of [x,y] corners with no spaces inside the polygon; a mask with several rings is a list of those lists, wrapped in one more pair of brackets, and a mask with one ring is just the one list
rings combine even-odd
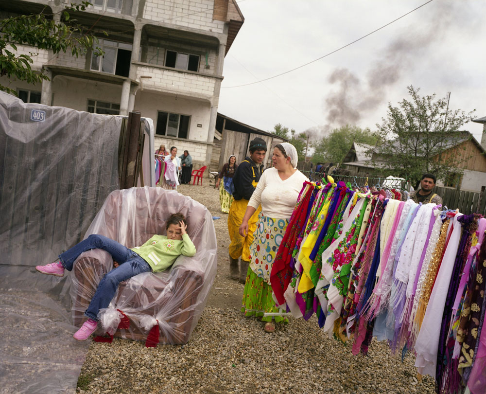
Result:
{"label": "blue jeans worn by the girl sprawled in the armchair", "polygon": [[85,316],[98,321],[98,312],[100,309],[108,307],[115,296],[120,282],[138,275],[139,273],[149,272],[152,269],[149,264],[134,251],[131,251],[110,238],[97,234],[89,235],[79,244],[74,245],[64,253],[61,253],[59,255],[59,261],[65,269],[70,271],[72,270],[74,260],[76,260],[84,251],[89,251],[91,249],[103,249],[104,251],[107,251],[111,254],[113,260],[119,264],[117,268],[112,269],[104,275],[85,311]]}

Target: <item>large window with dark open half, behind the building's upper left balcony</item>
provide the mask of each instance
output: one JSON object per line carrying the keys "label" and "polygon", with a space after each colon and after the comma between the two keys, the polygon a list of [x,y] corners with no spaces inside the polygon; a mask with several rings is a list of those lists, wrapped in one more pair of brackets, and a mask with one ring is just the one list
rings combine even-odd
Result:
{"label": "large window with dark open half, behind the building's upper left balcony", "polygon": [[100,39],[98,46],[103,49],[104,55],[91,54],[91,70],[127,77],[130,72],[132,45]]}

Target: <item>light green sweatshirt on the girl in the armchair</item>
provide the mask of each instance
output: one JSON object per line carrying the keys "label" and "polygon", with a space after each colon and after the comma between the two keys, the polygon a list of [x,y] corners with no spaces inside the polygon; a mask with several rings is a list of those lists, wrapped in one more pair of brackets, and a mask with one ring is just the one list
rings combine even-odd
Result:
{"label": "light green sweatshirt on the girl in the armchair", "polygon": [[181,254],[189,257],[196,254],[196,247],[187,233],[182,234],[182,240],[168,239],[166,235],[154,235],[142,246],[131,250],[144,259],[152,267],[153,272],[169,268]]}

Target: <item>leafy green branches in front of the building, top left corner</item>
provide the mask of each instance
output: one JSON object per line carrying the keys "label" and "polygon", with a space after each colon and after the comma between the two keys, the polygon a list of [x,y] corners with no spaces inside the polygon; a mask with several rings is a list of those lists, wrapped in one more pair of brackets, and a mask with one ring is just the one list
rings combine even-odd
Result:
{"label": "leafy green branches in front of the building, top left corner", "polygon": [[[70,19],[70,12],[84,11],[88,1],[66,6],[62,11],[62,20],[55,21],[53,15],[41,12],[35,15],[20,15],[0,21],[0,76],[6,75],[9,80],[20,80],[36,84],[49,77],[42,71],[32,70],[32,57],[29,54],[17,54],[17,44],[29,45],[38,49],[51,50],[53,54],[70,51],[78,57],[85,54],[97,38],[88,34],[84,28]],[[46,7],[47,8],[47,7]],[[96,47],[95,54],[103,52]],[[0,84],[0,90],[17,95],[15,90]]]}

